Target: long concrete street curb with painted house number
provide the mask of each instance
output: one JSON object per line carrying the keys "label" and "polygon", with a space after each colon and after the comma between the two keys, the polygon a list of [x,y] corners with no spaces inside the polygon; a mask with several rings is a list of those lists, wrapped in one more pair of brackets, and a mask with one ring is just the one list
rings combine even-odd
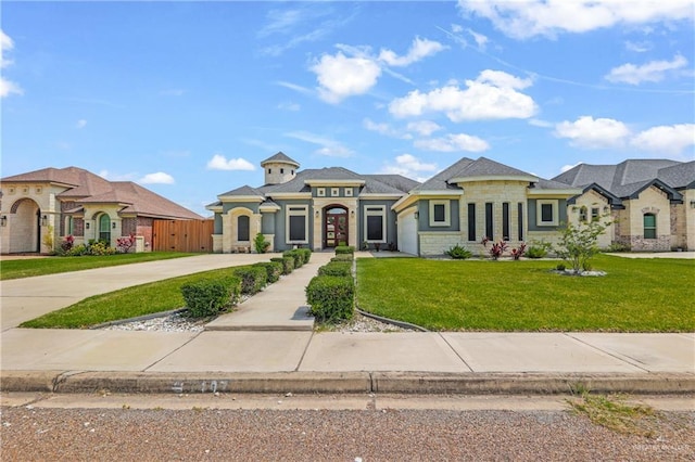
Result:
{"label": "long concrete street curb with painted house number", "polygon": [[3,371],[1,375],[1,392],[549,395],[587,390],[695,394],[695,374],[692,373]]}

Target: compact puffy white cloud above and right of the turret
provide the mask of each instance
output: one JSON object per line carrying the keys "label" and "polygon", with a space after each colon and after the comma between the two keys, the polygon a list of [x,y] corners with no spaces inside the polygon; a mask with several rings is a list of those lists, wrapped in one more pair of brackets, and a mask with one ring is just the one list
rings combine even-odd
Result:
{"label": "compact puffy white cloud above and right of the turret", "polygon": [[381,75],[372,60],[348,57],[340,51],[336,55],[324,54],[311,70],[316,74],[319,97],[331,104],[368,92]]}

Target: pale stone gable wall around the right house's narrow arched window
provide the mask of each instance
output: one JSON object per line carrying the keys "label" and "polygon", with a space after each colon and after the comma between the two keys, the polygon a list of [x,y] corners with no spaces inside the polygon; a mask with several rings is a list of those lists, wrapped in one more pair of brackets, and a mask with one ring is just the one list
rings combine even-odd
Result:
{"label": "pale stone gable wall around the right house's narrow arched window", "polygon": [[[636,198],[623,201],[620,210],[620,235],[616,241],[634,252],[668,252],[671,249],[671,205],[665,192],[650,187]],[[644,238],[644,215],[656,216],[656,239]]]}

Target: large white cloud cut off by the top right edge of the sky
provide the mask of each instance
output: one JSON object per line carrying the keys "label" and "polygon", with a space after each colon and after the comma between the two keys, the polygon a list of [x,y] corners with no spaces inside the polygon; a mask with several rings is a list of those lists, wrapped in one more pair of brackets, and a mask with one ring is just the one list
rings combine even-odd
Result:
{"label": "large white cloud cut off by the top right edge of the sky", "polygon": [[464,14],[485,17],[517,39],[695,16],[692,0],[458,0],[458,7]]}

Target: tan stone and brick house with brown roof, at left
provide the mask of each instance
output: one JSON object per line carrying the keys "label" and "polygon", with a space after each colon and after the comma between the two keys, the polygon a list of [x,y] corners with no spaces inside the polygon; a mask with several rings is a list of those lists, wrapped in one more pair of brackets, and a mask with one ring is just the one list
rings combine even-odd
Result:
{"label": "tan stone and brick house with brown roof, at left", "polygon": [[48,253],[67,236],[75,244],[104,240],[111,246],[131,233],[136,252],[151,249],[154,220],[202,217],[130,181],[108,181],[77,167],[45,168],[1,182],[0,252]]}

